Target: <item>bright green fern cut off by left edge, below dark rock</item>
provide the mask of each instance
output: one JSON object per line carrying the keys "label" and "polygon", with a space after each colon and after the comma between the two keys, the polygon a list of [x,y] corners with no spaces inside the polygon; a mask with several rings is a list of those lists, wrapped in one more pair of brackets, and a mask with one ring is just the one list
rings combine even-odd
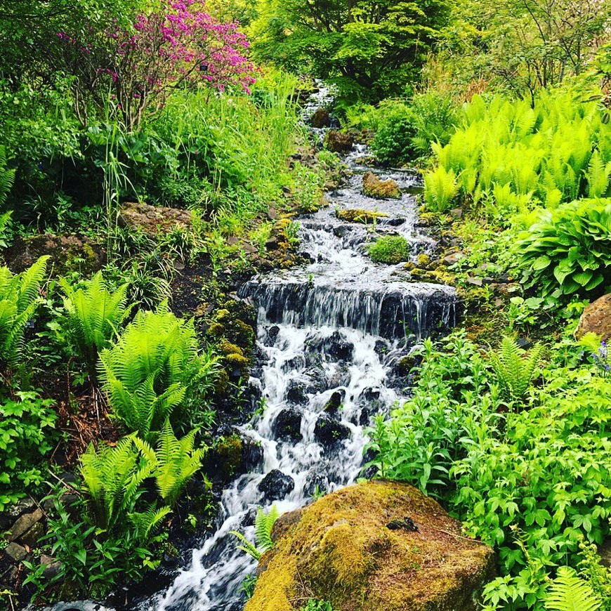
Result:
{"label": "bright green fern cut off by left edge, below dark rock", "polygon": [[48,256],[43,256],[17,275],[6,267],[0,268],[0,361],[5,367],[19,364],[25,326],[39,306],[47,260]]}

